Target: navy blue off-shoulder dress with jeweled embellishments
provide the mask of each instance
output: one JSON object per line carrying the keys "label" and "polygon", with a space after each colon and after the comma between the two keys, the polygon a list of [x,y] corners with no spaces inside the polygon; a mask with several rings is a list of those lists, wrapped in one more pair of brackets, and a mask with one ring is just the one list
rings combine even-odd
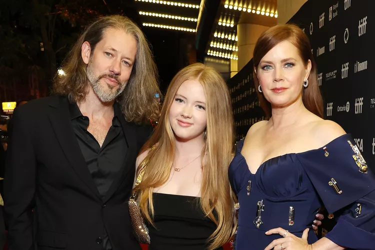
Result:
{"label": "navy blue off-shoulder dress with jeweled embellishments", "polygon": [[[317,149],[271,158],[255,173],[242,146],[238,141],[228,170],[239,202],[235,250],[264,249],[281,237],[264,234],[275,227],[301,237],[321,206],[337,221],[325,237],[347,248],[375,249],[375,175],[350,134]],[[312,229],[307,240],[317,240]]]}

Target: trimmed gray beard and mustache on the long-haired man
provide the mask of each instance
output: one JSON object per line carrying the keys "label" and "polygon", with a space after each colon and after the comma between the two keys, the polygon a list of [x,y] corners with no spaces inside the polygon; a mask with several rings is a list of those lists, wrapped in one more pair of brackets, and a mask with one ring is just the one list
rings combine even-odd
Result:
{"label": "trimmed gray beard and mustache on the long-haired man", "polygon": [[[93,91],[102,102],[113,101],[123,91],[123,89],[126,86],[126,82],[119,81],[117,75],[101,74],[98,77],[96,77],[93,72],[93,67],[92,67],[91,62],[89,62],[87,65],[87,77],[91,83]],[[105,82],[105,84],[109,88],[108,90],[106,90],[100,84],[100,79],[103,77],[110,77],[110,78],[117,80],[119,87],[116,90],[113,90],[114,86]]]}

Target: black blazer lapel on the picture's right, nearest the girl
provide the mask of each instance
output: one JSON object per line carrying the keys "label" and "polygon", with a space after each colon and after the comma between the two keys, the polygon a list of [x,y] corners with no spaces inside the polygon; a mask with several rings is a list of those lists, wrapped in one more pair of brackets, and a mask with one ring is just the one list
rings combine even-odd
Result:
{"label": "black blazer lapel on the picture's right, nearest the girl", "polygon": [[[113,193],[118,189],[118,187],[122,183],[123,179],[125,178],[126,174],[131,174],[131,173],[132,173],[132,175],[135,174],[135,160],[134,160],[134,162],[129,161],[129,157],[131,158],[131,155],[135,154],[135,156],[136,156],[138,154],[138,152],[137,152],[138,147],[137,147],[137,143],[136,143],[137,138],[136,138],[136,134],[134,133],[135,129],[134,129],[133,126],[129,125],[126,122],[123,115],[121,115],[121,117],[119,119],[120,119],[120,122],[121,122],[123,134],[125,136],[125,140],[126,140],[126,144],[127,144],[127,150],[126,150],[126,153],[125,153],[124,161],[122,163],[122,167],[119,170],[116,178],[113,180],[111,186],[109,187],[107,193],[104,196],[104,199],[103,199],[104,203],[107,202],[108,199],[113,195]],[[134,176],[131,176],[129,181],[133,181],[133,177]],[[131,183],[131,185],[132,185],[132,183]]]}

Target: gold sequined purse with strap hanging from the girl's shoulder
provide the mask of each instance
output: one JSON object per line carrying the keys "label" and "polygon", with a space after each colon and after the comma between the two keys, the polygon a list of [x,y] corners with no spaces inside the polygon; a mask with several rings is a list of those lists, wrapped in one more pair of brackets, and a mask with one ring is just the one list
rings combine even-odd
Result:
{"label": "gold sequined purse with strap hanging from the girl's shoulder", "polygon": [[[155,147],[152,146],[150,151],[153,150],[154,148]],[[139,185],[140,181],[142,180],[142,177],[144,174],[145,163],[146,162],[143,161],[142,168],[140,169],[139,174],[135,180],[134,187]],[[130,221],[133,227],[135,238],[138,240],[139,243],[149,244],[150,238],[148,234],[148,228],[143,221],[142,214],[140,213],[140,207],[139,207],[138,201],[136,200],[136,191],[134,191],[131,194],[128,205],[129,205]]]}

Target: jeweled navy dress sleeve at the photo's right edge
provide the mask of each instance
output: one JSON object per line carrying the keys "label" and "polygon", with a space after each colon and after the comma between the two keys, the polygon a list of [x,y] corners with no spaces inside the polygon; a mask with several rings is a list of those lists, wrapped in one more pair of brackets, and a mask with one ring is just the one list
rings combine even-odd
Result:
{"label": "jeweled navy dress sleeve at the photo's right edge", "polygon": [[337,223],[325,237],[353,249],[375,249],[375,175],[349,134],[298,155]]}

